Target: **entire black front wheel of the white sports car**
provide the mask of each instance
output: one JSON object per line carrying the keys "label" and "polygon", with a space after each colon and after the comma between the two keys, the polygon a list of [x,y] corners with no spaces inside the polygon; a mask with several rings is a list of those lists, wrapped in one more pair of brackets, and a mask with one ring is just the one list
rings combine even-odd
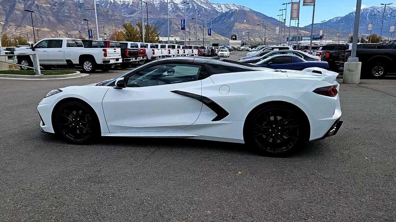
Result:
{"label": "entire black front wheel of the white sports car", "polygon": [[93,109],[81,102],[66,102],[55,114],[55,134],[74,144],[92,142],[100,135]]}

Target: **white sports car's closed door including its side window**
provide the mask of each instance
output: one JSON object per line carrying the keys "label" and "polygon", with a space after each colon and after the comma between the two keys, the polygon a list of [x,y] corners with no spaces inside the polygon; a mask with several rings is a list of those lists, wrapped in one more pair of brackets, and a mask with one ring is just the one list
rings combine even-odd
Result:
{"label": "white sports car's closed door including its side window", "polygon": [[102,103],[110,132],[174,131],[198,119],[202,103],[183,93],[200,98],[201,66],[170,62],[138,68],[126,77],[126,88],[107,91]]}

